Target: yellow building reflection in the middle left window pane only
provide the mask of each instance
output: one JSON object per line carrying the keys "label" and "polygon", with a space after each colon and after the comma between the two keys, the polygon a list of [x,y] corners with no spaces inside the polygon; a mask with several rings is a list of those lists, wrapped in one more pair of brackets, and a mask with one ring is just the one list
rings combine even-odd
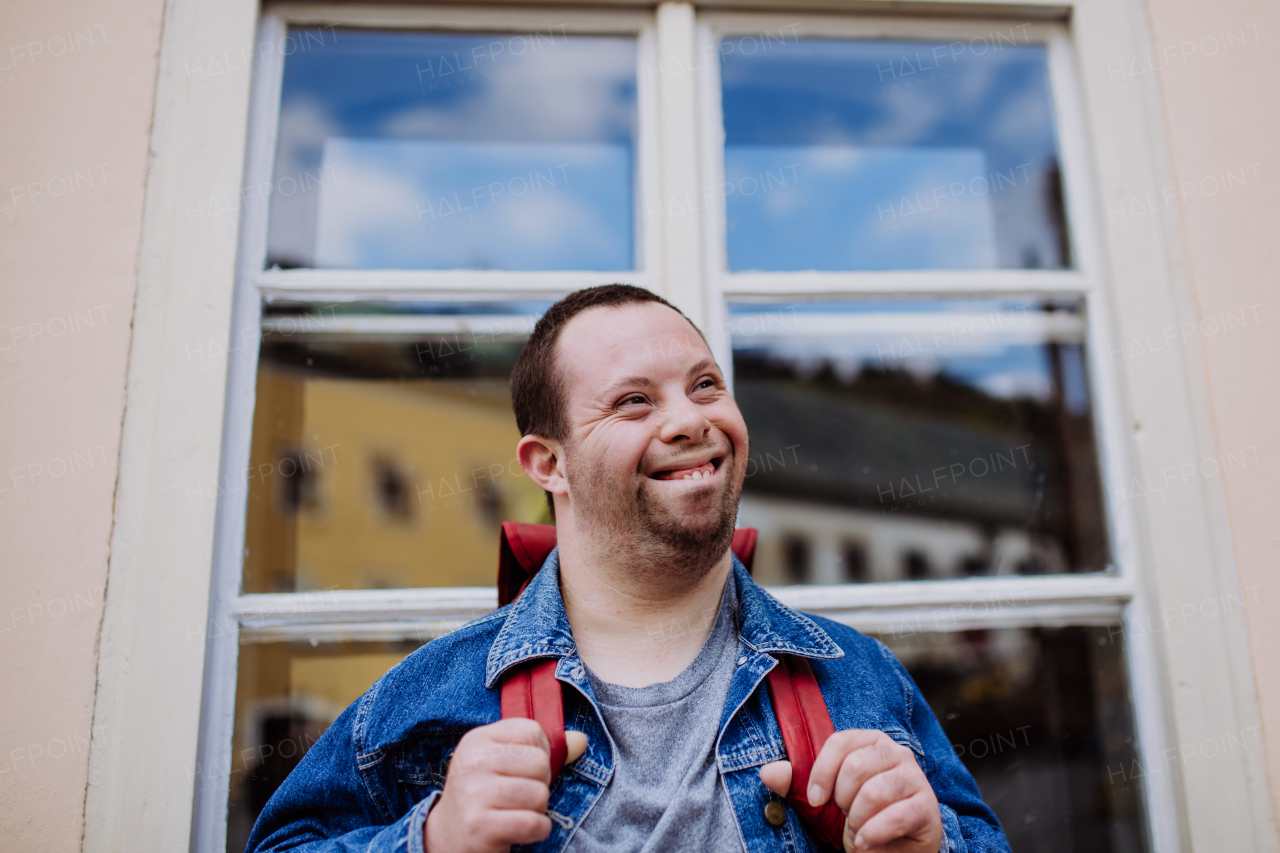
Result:
{"label": "yellow building reflection in the middle left window pane only", "polygon": [[264,365],[244,592],[489,587],[499,524],[549,521],[507,383],[334,379]]}

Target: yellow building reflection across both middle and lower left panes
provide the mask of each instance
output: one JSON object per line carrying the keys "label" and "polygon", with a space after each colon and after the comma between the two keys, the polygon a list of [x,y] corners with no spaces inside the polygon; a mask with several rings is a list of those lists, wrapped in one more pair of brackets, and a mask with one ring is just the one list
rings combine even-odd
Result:
{"label": "yellow building reflection across both middle and lower left panes", "polygon": [[[246,593],[492,587],[504,520],[549,523],[515,459],[507,382],[333,378],[264,362]],[[417,643],[241,646],[228,849],[261,798]],[[220,771],[220,772],[219,772]]]}

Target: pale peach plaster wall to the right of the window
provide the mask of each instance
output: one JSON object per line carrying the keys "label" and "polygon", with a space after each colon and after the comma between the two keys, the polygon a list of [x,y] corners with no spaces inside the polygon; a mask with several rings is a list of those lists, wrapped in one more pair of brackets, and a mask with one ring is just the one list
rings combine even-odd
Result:
{"label": "pale peach plaster wall to the right of the window", "polygon": [[[1220,479],[1226,493],[1263,749],[1280,815],[1280,4],[1147,5],[1153,56],[1114,79],[1158,85],[1162,93],[1179,184],[1170,195],[1199,314],[1197,329],[1174,338],[1197,347],[1203,359],[1217,461],[1226,464],[1215,473],[1216,464],[1207,460],[1179,462],[1196,462],[1198,475]],[[1152,329],[1152,338],[1158,342],[1162,332]],[[1213,612],[1207,605],[1198,610],[1197,617]],[[1242,612],[1226,617],[1240,619]]]}

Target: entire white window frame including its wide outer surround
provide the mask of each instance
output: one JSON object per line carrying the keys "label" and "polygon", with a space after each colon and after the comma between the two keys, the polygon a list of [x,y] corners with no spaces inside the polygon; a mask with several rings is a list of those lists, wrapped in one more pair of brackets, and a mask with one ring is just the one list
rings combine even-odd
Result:
{"label": "entire white window frame including its wide outer surround", "polygon": [[[694,8],[681,3],[662,3],[655,12],[607,0],[599,5],[617,8],[492,9],[483,0],[475,5],[288,5],[273,6],[261,18],[250,0],[170,0],[166,6],[99,660],[86,850],[183,844],[223,849],[228,780],[201,789],[193,770],[201,762],[216,765],[220,754],[230,752],[238,631],[224,625],[239,625],[247,637],[261,640],[435,635],[494,605],[493,590],[479,588],[351,590],[310,598],[305,593],[238,594],[243,492],[223,494],[215,519],[211,502],[192,505],[189,484],[219,478],[234,482],[247,465],[264,296],[502,300],[554,297],[584,284],[625,280],[662,293],[705,325],[723,321],[728,298],[751,296],[1082,295],[1088,300],[1096,432],[1106,475],[1123,483],[1130,476],[1155,479],[1169,459],[1203,459],[1215,452],[1198,352],[1160,368],[1161,382],[1155,387],[1139,382],[1130,365],[1115,370],[1102,359],[1108,341],[1135,337],[1153,323],[1155,328],[1174,325],[1193,314],[1189,296],[1179,288],[1172,227],[1151,229],[1139,238],[1126,236],[1123,243],[1098,227],[1103,199],[1142,197],[1170,183],[1157,93],[1116,88],[1107,77],[1108,61],[1143,55],[1148,45],[1149,36],[1140,28],[1146,19],[1140,0],[908,0],[899,6],[901,17],[892,19],[850,17],[882,10],[873,0],[814,0],[815,15],[795,13],[786,19],[705,10],[695,18]],[[841,14],[822,15],[823,6]],[[946,20],[914,19],[952,8]],[[718,68],[699,67],[700,49],[717,28],[758,32],[762,22],[781,20],[782,26],[800,24],[805,33],[823,28],[819,35],[936,38],[948,32],[989,32],[997,26],[993,20],[1001,19],[1030,24],[1050,45],[1076,269],[728,275],[722,272],[719,211],[704,218],[701,229],[668,228],[662,218],[652,228],[646,200],[696,197],[710,175],[723,172],[722,140],[714,126],[719,110],[708,109],[718,105]],[[278,38],[288,23],[513,32],[545,28],[549,20],[566,23],[572,32],[639,33],[636,224],[643,231],[636,243],[637,270],[262,272],[265,211],[244,211],[239,241],[234,222],[182,220],[184,201],[270,181],[279,108],[282,67],[269,55],[259,54],[252,87],[246,77],[225,81],[214,91],[193,79],[193,59],[244,56],[246,46],[253,55],[252,45]],[[698,73],[660,72],[680,67],[698,68]],[[202,362],[192,369],[192,342],[210,338],[227,341],[227,350],[209,356],[201,350]],[[731,364],[727,342],[718,346],[716,355]],[[1161,423],[1158,444],[1138,426],[1153,420]],[[1222,496],[1207,483],[1196,483],[1176,512],[1116,506],[1110,493],[1108,501],[1115,575],[1041,578],[1034,584],[982,579],[963,581],[963,587],[960,581],[925,581],[792,588],[788,601],[859,628],[883,629],[886,619],[928,617],[936,607],[998,599],[1002,593],[1007,598],[1009,585],[1015,584],[1029,589],[1030,601],[1021,610],[1002,607],[1005,621],[983,625],[1123,620],[1126,637],[1142,637],[1126,644],[1142,749],[1153,765],[1165,761],[1176,770],[1181,766],[1179,744],[1257,725],[1243,625],[1224,619],[1178,635],[1134,630],[1147,621],[1158,622],[1148,613],[1162,608],[1239,596]],[[301,616],[296,612],[300,602],[306,603]],[[195,637],[192,625],[197,626]],[[1197,692],[1174,686],[1188,683]],[[1169,751],[1171,763],[1160,760]],[[1266,777],[1261,753],[1224,757],[1217,767],[1229,771],[1212,777],[1188,772],[1179,779],[1174,772],[1148,777],[1155,783],[1148,784],[1147,804],[1156,850],[1274,849],[1267,792],[1256,781]]]}

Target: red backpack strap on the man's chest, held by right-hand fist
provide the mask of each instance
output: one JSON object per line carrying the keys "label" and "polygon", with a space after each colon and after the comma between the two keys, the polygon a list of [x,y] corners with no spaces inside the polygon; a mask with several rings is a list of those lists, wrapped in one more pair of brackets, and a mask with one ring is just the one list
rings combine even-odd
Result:
{"label": "red backpack strap on the man's chest, held by right-hand fist", "polygon": [[822,698],[818,679],[809,661],[796,654],[778,654],[778,665],[769,670],[769,698],[782,730],[782,743],[791,762],[791,788],[787,802],[827,844],[844,849],[845,813],[828,799],[819,808],[809,804],[809,774],[827,738],[836,733],[827,702]]}

